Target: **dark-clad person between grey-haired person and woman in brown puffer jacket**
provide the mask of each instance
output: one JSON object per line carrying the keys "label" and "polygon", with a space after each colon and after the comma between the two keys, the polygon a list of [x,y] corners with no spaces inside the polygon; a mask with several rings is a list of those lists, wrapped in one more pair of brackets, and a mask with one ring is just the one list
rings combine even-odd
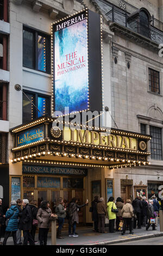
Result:
{"label": "dark-clad person between grey-haired person and woman in brown puffer jacket", "polygon": [[[33,240],[35,241],[35,233],[36,233],[36,228],[37,225],[39,223],[39,221],[37,220],[36,216],[37,216],[37,201],[36,200],[31,200],[29,203],[30,209],[31,209],[31,213],[32,213],[32,229],[30,230],[30,234],[32,235]],[[37,243],[37,241],[35,241],[35,243]]]}

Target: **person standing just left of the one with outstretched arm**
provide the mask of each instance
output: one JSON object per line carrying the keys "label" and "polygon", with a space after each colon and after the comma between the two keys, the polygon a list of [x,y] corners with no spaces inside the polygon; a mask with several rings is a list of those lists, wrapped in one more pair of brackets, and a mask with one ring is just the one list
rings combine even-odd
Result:
{"label": "person standing just left of the one with outstretched arm", "polygon": [[57,238],[63,239],[64,237],[61,236],[61,229],[64,225],[65,222],[65,217],[66,217],[66,206],[64,204],[64,200],[62,197],[59,198],[58,204],[55,208],[55,212],[58,216],[58,229],[57,229]]}

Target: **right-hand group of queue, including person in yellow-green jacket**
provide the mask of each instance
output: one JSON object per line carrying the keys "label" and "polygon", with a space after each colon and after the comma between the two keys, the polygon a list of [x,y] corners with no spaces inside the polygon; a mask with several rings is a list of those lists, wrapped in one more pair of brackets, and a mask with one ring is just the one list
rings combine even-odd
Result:
{"label": "right-hand group of queue, including person in yellow-green jacket", "polygon": [[98,199],[96,196],[90,208],[92,221],[94,222],[93,231],[107,233],[104,230],[105,218],[109,219],[109,233],[115,232],[115,224],[116,231],[121,231],[122,235],[126,233],[127,229],[130,234],[134,234],[136,227],[137,229],[146,227],[146,230],[148,230],[151,224],[152,229],[156,230],[159,209],[163,210],[163,199],[160,202],[161,204],[155,196],[149,200],[146,197],[136,197],[133,202],[130,199],[124,202],[120,197],[115,202],[114,197],[110,197],[105,205],[104,198]]}

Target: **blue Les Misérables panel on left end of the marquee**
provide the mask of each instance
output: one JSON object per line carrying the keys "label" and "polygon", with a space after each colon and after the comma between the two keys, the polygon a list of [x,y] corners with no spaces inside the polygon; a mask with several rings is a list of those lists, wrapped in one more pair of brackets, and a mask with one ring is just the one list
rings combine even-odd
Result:
{"label": "blue Les Mis\u00e9rables panel on left end of the marquee", "polygon": [[17,147],[40,141],[44,138],[44,126],[19,133],[16,138]]}

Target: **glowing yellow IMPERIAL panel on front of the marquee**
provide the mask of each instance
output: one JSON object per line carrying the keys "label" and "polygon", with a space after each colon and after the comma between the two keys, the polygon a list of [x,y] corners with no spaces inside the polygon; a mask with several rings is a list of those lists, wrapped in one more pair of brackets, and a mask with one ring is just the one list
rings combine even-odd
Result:
{"label": "glowing yellow IMPERIAL panel on front of the marquee", "polygon": [[106,135],[104,132],[65,129],[64,140],[82,144],[137,150],[136,138],[120,135]]}

